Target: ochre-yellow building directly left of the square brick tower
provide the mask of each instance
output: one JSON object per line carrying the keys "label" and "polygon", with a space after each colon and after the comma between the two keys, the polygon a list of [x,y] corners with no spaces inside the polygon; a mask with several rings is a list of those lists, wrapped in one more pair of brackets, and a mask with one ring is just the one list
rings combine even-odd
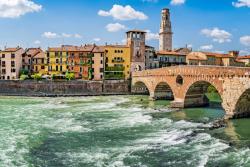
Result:
{"label": "ochre-yellow building directly left of the square brick tower", "polygon": [[131,68],[131,50],[126,45],[106,45],[105,79],[129,79]]}

